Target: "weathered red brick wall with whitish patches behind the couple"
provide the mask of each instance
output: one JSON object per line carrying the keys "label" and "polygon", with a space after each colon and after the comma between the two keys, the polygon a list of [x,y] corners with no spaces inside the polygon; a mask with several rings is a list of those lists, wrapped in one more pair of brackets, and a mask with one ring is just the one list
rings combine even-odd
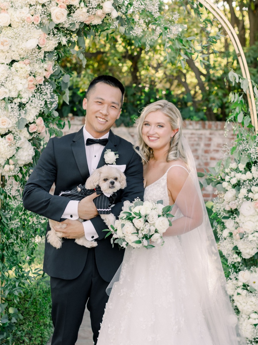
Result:
{"label": "weathered red brick wall with whitish patches behind the couple", "polygon": [[[71,128],[66,125],[64,134],[77,132],[83,125],[84,117],[73,117],[69,119]],[[115,134],[135,144],[135,128],[114,127]],[[232,146],[235,138],[230,125],[227,125],[227,136],[225,137],[225,122],[219,121],[184,121],[183,133],[187,139],[194,158],[197,171],[204,171],[214,167],[216,162],[223,158],[223,146]],[[208,186],[203,190],[203,197],[209,200],[214,196],[214,189]]]}

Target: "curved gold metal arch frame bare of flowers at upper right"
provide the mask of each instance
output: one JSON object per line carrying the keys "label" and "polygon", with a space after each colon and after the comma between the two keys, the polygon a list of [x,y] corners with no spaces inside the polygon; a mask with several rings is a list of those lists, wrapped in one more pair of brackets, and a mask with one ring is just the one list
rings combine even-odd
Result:
{"label": "curved gold metal arch frame bare of flowers at upper right", "polygon": [[217,8],[215,4],[213,4],[210,0],[198,0],[197,2],[200,2],[203,4],[203,6],[210,11],[215,18],[218,19],[219,23],[223,26],[225,31],[227,32],[230,40],[232,41],[232,44],[235,48],[237,58],[239,61],[239,65],[243,74],[243,78],[247,78],[248,80],[248,86],[249,89],[246,91],[247,99],[248,99],[248,105],[251,115],[251,121],[252,125],[255,127],[255,133],[258,134],[258,123],[257,123],[257,112],[256,112],[256,106],[255,106],[255,97],[254,97],[254,91],[252,89],[252,83],[250,78],[249,69],[247,66],[245,54],[243,51],[243,48],[240,44],[240,41],[237,37],[237,34],[233,28],[233,26],[230,24],[230,22],[227,20],[227,18],[224,16],[224,14]]}

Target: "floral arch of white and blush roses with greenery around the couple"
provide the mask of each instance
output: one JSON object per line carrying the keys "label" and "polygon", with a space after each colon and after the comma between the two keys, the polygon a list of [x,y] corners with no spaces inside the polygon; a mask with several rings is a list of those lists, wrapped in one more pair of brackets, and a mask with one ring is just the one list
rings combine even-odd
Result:
{"label": "floral arch of white and blush roses with greenery around the couple", "polygon": [[[255,97],[257,100],[258,91],[257,86],[254,86],[253,90],[243,49],[234,29],[223,14],[209,0],[189,2],[200,18],[201,8],[206,7],[226,30],[235,47],[243,74],[239,77],[232,71],[229,73],[229,79],[233,83],[241,82],[248,99],[248,107],[245,107],[243,94],[230,94],[229,101],[239,105],[232,112],[232,120],[243,128],[252,128],[249,131],[239,131],[238,142],[231,151],[235,161],[229,158],[218,162],[204,183],[212,183],[219,191],[218,201],[214,204],[214,214],[217,217],[215,227],[220,236],[219,245],[230,268],[228,292],[243,334],[249,344],[255,344],[258,338],[258,310],[251,305],[258,299],[258,231],[257,228],[250,230],[252,225],[243,230],[241,224],[247,218],[250,220],[250,217],[252,223],[258,221],[258,153],[257,150],[251,155],[247,152],[249,148],[257,148]],[[170,49],[176,49],[181,63],[184,64],[184,59],[198,51],[192,43],[195,37],[182,35],[185,28],[177,24],[177,19],[178,15],[166,11],[161,0],[0,2],[2,298],[8,294],[18,296],[24,282],[32,279],[23,270],[25,259],[20,253],[23,252],[23,256],[26,254],[25,257],[29,257],[30,264],[30,257],[33,256],[36,246],[35,238],[43,234],[41,227],[44,220],[23,209],[21,191],[44,145],[42,134],[48,130],[50,135],[62,135],[64,121],[58,117],[55,109],[58,94],[62,93],[63,100],[69,101],[70,79],[69,74],[59,65],[62,57],[76,54],[85,66],[85,37],[94,37],[100,32],[114,29],[135,36],[136,43],[144,37],[146,49],[159,37],[163,37],[168,54]],[[203,25],[206,25],[205,19]],[[215,36],[215,39],[218,38],[219,36]],[[176,42],[176,45],[173,46],[173,42]],[[15,181],[15,184],[12,181]],[[246,211],[248,207],[253,212],[250,215]],[[239,228],[242,230],[239,231]],[[247,241],[245,246],[244,240]],[[249,254],[245,249],[247,245],[253,248]],[[0,303],[0,339],[10,335],[14,323],[12,318],[19,318],[17,309],[9,307]]]}

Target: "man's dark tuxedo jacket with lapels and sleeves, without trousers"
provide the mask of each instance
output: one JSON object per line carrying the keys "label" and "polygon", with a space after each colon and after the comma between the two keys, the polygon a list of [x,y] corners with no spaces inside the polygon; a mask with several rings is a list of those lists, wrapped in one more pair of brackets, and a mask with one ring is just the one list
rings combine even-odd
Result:
{"label": "man's dark tuxedo jacket with lapels and sleeves, without trousers", "polygon": [[[109,132],[108,143],[99,160],[98,168],[105,165],[106,149],[117,152],[117,165],[126,165],[125,175],[127,187],[119,190],[116,205],[112,213],[119,215],[123,201],[143,199],[143,169],[139,155],[133,150],[132,144]],[[41,154],[39,162],[29,177],[23,192],[23,205],[26,209],[49,219],[61,221],[64,210],[69,202],[66,197],[58,196],[62,190],[71,190],[79,184],[85,184],[89,177],[83,128],[77,133],[61,138],[51,138]],[[55,183],[54,195],[49,191]],[[120,266],[124,250],[105,239],[107,226],[97,216],[91,219],[97,233],[98,245],[95,247],[96,264],[101,277],[110,282]],[[47,231],[49,230],[47,226]],[[43,270],[51,277],[74,279],[82,272],[88,248],[80,246],[74,239],[64,239],[62,248],[56,249],[45,241]]]}

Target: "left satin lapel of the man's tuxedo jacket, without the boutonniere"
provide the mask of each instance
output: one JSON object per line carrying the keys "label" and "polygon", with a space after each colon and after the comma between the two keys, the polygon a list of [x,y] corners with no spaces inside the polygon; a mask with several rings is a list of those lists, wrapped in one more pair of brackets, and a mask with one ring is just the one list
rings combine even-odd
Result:
{"label": "left satin lapel of the man's tuxedo jacket, without the boutonniere", "polygon": [[89,168],[86,158],[86,150],[83,136],[83,127],[75,134],[71,148],[74,158],[79,169],[80,175],[84,181],[89,177]]}

